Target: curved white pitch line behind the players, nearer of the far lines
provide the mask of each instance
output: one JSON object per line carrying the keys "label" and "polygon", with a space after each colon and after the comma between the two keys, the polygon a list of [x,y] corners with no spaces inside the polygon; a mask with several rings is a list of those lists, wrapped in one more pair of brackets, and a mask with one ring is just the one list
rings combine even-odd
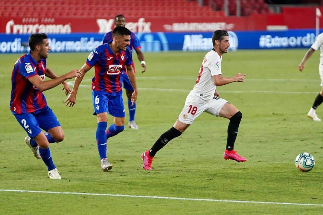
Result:
{"label": "curved white pitch line behind the players, nearer of the far lines", "polygon": [[[90,81],[91,79],[85,79],[84,81]],[[68,81],[67,82],[69,86],[73,86],[74,81]],[[80,87],[88,87],[90,88],[90,85],[84,85],[80,84]],[[140,90],[157,90],[157,91],[177,91],[177,92],[190,92],[191,89],[167,89],[167,88],[141,88],[139,87],[138,89]],[[288,94],[318,94],[318,92],[300,92],[300,91],[256,91],[256,90],[220,90],[220,93],[288,93]]]}

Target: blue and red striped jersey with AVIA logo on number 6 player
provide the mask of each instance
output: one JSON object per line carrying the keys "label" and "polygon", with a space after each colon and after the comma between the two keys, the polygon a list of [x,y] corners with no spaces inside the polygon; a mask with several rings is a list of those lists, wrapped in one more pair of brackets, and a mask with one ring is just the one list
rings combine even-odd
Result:
{"label": "blue and red striped jersey with AVIA logo on number 6 player", "polygon": [[130,47],[126,51],[120,51],[115,55],[109,44],[104,43],[96,47],[86,60],[89,67],[94,66],[94,77],[92,78],[92,90],[103,90],[108,93],[116,93],[121,90],[120,73],[125,65],[132,64],[132,53]]}

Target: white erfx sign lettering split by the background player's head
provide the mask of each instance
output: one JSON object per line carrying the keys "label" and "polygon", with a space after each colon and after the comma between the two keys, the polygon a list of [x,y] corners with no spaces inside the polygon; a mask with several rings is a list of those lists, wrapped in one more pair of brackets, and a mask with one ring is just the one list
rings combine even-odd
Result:
{"label": "white erfx sign lettering split by the background player's head", "polygon": [[[112,31],[114,19],[97,19],[97,24],[99,26],[99,33],[105,34]],[[151,32],[150,29],[151,22],[145,22],[145,18],[141,17],[138,22],[127,22],[126,28],[133,32]]]}

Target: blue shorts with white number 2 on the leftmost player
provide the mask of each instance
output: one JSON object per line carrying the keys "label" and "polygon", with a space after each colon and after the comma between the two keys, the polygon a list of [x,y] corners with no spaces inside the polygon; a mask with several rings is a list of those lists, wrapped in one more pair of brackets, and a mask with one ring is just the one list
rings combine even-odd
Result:
{"label": "blue shorts with white number 2 on the leftmost player", "polygon": [[36,137],[42,132],[41,129],[48,131],[51,128],[61,126],[57,117],[48,106],[33,113],[16,114],[13,111],[11,112],[30,138]]}

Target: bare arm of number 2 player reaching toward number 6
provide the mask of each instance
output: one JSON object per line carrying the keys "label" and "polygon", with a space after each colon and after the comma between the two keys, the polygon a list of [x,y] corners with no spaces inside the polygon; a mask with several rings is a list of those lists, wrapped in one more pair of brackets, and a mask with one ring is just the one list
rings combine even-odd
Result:
{"label": "bare arm of number 2 player reaching toward number 6", "polygon": [[74,77],[77,77],[77,78],[81,77],[81,73],[78,69],[74,69],[65,75],[59,76],[57,78],[54,78],[48,81],[42,81],[40,76],[37,76],[37,75],[28,78],[28,80],[40,91],[45,91],[53,87],[56,87],[57,85],[63,83],[63,81],[67,79],[74,78]]}

